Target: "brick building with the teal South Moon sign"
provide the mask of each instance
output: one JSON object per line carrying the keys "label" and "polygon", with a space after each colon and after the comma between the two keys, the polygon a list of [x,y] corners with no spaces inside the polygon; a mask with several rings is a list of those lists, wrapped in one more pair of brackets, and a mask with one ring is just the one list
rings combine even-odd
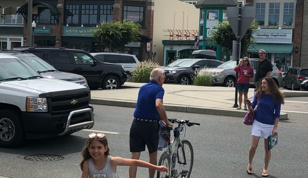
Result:
{"label": "brick building with the teal South Moon sign", "polygon": [[[27,36],[27,1],[16,13],[24,16],[24,37]],[[125,46],[125,52],[136,55],[140,61],[149,58],[147,43],[153,38],[154,0],[114,1],[33,1],[32,19],[35,46],[56,46],[100,52],[106,50],[93,38],[90,29],[98,22],[133,21],[140,24],[140,40]],[[24,38],[24,42],[26,39]]]}

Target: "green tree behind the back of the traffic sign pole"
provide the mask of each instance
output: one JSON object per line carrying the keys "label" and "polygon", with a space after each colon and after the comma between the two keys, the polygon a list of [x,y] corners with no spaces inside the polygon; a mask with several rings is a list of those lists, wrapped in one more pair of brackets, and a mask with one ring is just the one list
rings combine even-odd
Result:
{"label": "green tree behind the back of the traffic sign pole", "polygon": [[[247,54],[247,49],[250,43],[256,43],[256,39],[252,36],[253,32],[258,31],[256,27],[258,27],[258,23],[253,21],[243,36],[241,40],[241,56]],[[233,41],[237,41],[237,37],[235,37],[229,22],[218,23],[217,28],[210,31],[210,35],[212,35],[212,43],[221,45],[222,47],[228,49],[230,54],[232,53]]]}

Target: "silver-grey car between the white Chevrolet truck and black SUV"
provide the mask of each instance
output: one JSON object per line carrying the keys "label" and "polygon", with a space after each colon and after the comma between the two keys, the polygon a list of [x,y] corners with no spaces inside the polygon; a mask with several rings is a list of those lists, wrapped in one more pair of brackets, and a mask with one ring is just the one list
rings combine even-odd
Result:
{"label": "silver-grey car between the white Chevrolet truck and black SUV", "polygon": [[12,55],[20,58],[29,66],[31,66],[35,71],[40,73],[44,78],[56,78],[63,81],[74,82],[85,87],[88,87],[88,84],[85,78],[81,75],[69,72],[60,72],[56,68],[52,67],[50,64],[46,63],[40,57],[29,53],[24,50],[0,50],[0,53]]}

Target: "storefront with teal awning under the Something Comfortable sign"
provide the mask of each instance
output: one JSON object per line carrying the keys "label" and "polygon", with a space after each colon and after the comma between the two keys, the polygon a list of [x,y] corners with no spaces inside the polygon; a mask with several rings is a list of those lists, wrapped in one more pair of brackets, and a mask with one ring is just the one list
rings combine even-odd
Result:
{"label": "storefront with teal awning under the Something Comfortable sign", "polygon": [[260,49],[266,51],[266,58],[276,63],[278,69],[288,71],[293,65],[292,29],[259,29],[253,33],[256,44],[250,44],[247,51],[250,58],[259,58]]}

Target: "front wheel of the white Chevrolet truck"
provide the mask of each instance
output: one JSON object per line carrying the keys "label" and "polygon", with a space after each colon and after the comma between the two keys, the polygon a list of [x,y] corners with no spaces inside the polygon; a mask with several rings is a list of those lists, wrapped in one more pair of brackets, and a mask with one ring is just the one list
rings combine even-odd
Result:
{"label": "front wheel of the white Chevrolet truck", "polygon": [[22,123],[17,113],[11,109],[0,111],[0,146],[4,148],[15,148],[26,141]]}

